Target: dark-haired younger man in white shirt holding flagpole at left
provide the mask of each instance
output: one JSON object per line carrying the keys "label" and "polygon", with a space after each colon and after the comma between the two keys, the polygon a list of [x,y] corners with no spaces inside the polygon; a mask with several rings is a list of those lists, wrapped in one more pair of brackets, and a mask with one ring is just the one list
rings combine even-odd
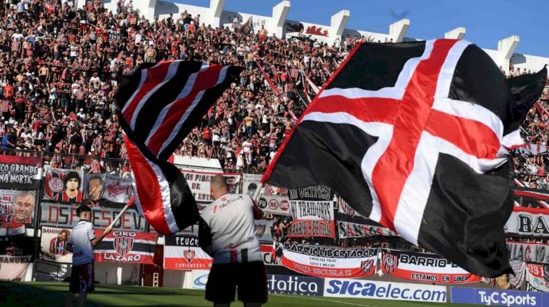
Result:
{"label": "dark-haired younger man in white shirt holding flagpole at left", "polygon": [[78,305],[86,305],[88,292],[93,291],[93,246],[98,245],[112,230],[110,227],[100,237],[93,232],[92,209],[82,205],[76,209],[80,221],[72,229],[66,249],[72,252],[71,281],[65,306],[72,306],[74,294],[80,293]]}

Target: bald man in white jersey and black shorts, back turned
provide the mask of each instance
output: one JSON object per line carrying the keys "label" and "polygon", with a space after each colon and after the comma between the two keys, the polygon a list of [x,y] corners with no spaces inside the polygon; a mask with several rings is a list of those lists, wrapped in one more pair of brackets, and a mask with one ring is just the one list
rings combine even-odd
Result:
{"label": "bald man in white jersey and black shorts, back turned", "polygon": [[212,258],[206,299],[214,306],[229,306],[238,299],[245,307],[267,302],[267,274],[254,219],[261,210],[248,195],[230,194],[227,181],[215,175],[210,183],[214,202],[200,214],[198,242]]}

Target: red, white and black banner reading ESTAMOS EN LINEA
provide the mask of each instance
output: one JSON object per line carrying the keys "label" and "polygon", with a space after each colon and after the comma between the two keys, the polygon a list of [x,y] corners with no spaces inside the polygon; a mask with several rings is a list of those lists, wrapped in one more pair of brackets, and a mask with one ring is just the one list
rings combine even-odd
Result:
{"label": "red, white and black banner reading ESTAMOS EN LINEA", "polygon": [[436,254],[382,249],[380,265],[386,274],[419,282],[469,283],[481,280],[481,277]]}

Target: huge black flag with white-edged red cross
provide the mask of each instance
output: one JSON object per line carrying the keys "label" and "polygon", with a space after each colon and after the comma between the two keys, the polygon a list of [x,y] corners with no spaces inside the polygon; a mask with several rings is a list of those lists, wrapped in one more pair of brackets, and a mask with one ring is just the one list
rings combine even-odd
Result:
{"label": "huge black flag with white-edged red cross", "polygon": [[[547,71],[506,79],[482,49],[359,44],[296,123],[262,183],[322,184],[358,213],[477,275],[509,266],[508,149]],[[511,162],[511,163],[509,163]]]}

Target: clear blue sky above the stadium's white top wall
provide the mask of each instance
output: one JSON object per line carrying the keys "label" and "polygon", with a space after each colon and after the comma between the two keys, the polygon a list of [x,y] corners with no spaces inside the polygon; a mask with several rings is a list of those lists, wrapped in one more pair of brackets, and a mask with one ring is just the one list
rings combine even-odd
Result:
{"label": "clear blue sky above the stadium's white top wall", "polygon": [[[166,1],[166,0],[165,0]],[[208,7],[209,0],[167,0]],[[227,0],[226,10],[271,16],[282,0]],[[407,37],[444,37],[466,27],[465,38],[483,48],[497,49],[497,41],[519,35],[517,53],[549,57],[548,0],[293,0],[288,19],[330,24],[339,10],[351,12],[349,29],[388,33],[389,25],[410,19]]]}

